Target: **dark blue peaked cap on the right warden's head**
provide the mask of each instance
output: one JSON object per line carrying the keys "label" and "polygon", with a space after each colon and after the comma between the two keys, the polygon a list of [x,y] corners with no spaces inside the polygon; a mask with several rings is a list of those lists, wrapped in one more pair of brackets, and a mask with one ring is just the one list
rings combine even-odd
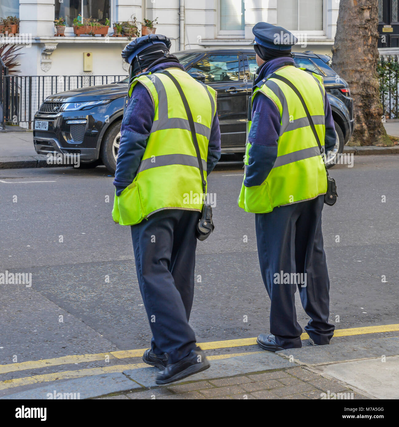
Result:
{"label": "dark blue peaked cap on the right warden's head", "polygon": [[275,50],[290,50],[298,39],[285,28],[258,22],[252,29],[255,40],[252,44],[260,44],[263,47]]}

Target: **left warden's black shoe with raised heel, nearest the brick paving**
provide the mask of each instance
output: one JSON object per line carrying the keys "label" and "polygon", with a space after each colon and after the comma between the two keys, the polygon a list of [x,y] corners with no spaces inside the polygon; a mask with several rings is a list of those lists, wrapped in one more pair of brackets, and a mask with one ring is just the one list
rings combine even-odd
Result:
{"label": "left warden's black shoe with raised heel, nearest the brick paving", "polygon": [[189,355],[176,363],[169,363],[162,371],[155,382],[157,384],[169,384],[181,380],[189,375],[208,369],[210,364],[201,348],[197,347],[191,350]]}

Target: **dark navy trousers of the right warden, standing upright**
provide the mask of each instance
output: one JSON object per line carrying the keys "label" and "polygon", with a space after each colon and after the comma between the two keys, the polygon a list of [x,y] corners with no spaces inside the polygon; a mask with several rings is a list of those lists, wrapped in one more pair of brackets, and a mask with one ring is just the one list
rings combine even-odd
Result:
{"label": "dark navy trousers of the right warden, standing upright", "polygon": [[[318,196],[255,216],[259,264],[271,300],[270,332],[283,348],[301,346],[294,297],[297,288],[311,318],[305,327],[309,336],[316,344],[328,344],[334,333],[334,325],[328,322],[330,282],[321,232],[323,202],[324,196]],[[285,273],[289,273],[290,283],[281,283]],[[306,283],[293,283],[291,273],[302,273],[295,278]]]}

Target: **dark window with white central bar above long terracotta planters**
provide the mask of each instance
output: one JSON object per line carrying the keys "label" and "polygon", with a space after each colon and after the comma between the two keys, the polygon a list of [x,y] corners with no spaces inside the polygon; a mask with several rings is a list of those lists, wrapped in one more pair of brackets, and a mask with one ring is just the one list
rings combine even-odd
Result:
{"label": "dark window with white central bar above long terracotta planters", "polygon": [[105,24],[110,19],[110,0],[55,0],[55,18],[62,16],[67,26],[73,26],[73,20],[81,15]]}

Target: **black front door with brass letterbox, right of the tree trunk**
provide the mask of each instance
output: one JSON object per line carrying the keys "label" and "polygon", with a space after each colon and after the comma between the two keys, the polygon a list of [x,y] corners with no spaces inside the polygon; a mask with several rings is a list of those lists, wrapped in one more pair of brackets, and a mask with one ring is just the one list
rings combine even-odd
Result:
{"label": "black front door with brass letterbox, right of the tree trunk", "polygon": [[399,47],[399,0],[379,0],[378,21],[378,47]]}

